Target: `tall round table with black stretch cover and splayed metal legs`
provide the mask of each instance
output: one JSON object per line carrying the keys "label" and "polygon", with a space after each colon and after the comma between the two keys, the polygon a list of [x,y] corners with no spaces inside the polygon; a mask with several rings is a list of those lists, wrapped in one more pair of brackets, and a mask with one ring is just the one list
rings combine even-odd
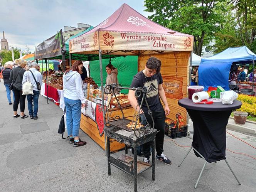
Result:
{"label": "tall round table with black stretch cover and splayed metal legs", "polygon": [[[194,104],[191,99],[184,98],[180,99],[178,104],[187,110],[193,121],[194,135],[190,150],[193,148],[195,155],[205,160],[204,167],[195,185],[196,188],[207,162],[212,163],[225,160],[227,163],[226,126],[232,110],[241,108],[242,103],[241,101],[234,100],[232,105],[223,105],[222,102]],[[185,155],[184,159],[187,155]],[[179,164],[179,167],[182,162]],[[240,184],[228,163],[227,165]]]}

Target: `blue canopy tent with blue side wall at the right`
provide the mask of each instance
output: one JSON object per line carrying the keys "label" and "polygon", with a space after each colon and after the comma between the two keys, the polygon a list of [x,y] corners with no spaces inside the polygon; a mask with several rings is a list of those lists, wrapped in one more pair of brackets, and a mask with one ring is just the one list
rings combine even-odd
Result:
{"label": "blue canopy tent with blue side wall at the right", "polygon": [[256,54],[251,52],[246,46],[229,47],[226,50],[208,58],[202,58],[198,69],[199,85],[204,86],[207,91],[209,86],[222,86],[229,90],[229,71],[233,62],[253,62]]}

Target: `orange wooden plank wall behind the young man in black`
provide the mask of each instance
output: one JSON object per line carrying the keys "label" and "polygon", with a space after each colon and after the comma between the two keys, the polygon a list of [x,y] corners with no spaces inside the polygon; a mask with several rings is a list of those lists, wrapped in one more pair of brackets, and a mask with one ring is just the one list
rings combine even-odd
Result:
{"label": "orange wooden plank wall behind the young man in black", "polygon": [[[189,84],[189,58],[190,52],[171,52],[164,54],[151,54],[147,56],[138,57],[138,71],[145,69],[145,65],[149,57],[157,57],[161,60],[161,74],[162,76],[173,76],[176,77],[176,63],[177,63],[177,77],[183,78],[182,95],[183,98],[187,97],[187,85]],[[165,79],[163,78],[163,82]],[[179,99],[167,98],[168,105],[170,108],[170,114],[168,118],[175,120],[177,112],[182,114],[185,123],[187,123],[187,111],[185,108],[178,105]]]}

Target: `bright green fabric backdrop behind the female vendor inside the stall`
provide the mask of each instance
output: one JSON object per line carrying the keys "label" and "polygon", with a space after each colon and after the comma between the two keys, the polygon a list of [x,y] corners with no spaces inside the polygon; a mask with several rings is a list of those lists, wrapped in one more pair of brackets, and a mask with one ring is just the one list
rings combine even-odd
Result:
{"label": "bright green fabric backdrop behind the female vendor inside the stall", "polygon": [[[102,59],[103,67],[103,85],[106,83],[106,65],[109,59]],[[133,76],[138,72],[138,56],[116,57],[111,59],[111,64],[118,70],[118,82],[123,87],[130,87]],[[93,78],[98,86],[101,86],[99,60],[90,61],[90,77]],[[122,90],[121,93],[128,93],[128,90]]]}

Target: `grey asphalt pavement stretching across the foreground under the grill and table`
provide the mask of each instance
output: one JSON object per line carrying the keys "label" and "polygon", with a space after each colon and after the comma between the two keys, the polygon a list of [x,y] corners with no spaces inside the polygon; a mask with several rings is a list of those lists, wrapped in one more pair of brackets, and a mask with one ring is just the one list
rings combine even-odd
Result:
{"label": "grey asphalt pavement stretching across the foreground under the grill and table", "polygon": [[[26,101],[27,105],[27,101]],[[19,110],[18,110],[19,111]],[[87,145],[74,148],[57,133],[62,110],[47,99],[39,97],[39,119],[13,119],[3,82],[0,83],[0,191],[133,191],[133,177],[111,166],[108,176],[105,151],[80,130]],[[27,107],[25,114],[28,115]],[[191,124],[192,125],[192,124]],[[256,137],[229,131],[256,146]],[[190,136],[174,141],[183,146],[192,143]],[[227,134],[227,149],[256,157],[256,150]],[[179,147],[165,136],[164,153],[172,165],[155,162],[155,181],[151,169],[138,175],[138,191],[157,192],[251,192],[256,189],[256,160],[226,151],[226,157],[236,173],[238,185],[224,161],[207,163],[197,189],[195,182],[204,164],[190,152],[181,167],[179,162],[188,148]],[[124,151],[112,154],[119,157]],[[129,154],[131,152],[129,151]],[[139,157],[142,159],[141,157]]]}

